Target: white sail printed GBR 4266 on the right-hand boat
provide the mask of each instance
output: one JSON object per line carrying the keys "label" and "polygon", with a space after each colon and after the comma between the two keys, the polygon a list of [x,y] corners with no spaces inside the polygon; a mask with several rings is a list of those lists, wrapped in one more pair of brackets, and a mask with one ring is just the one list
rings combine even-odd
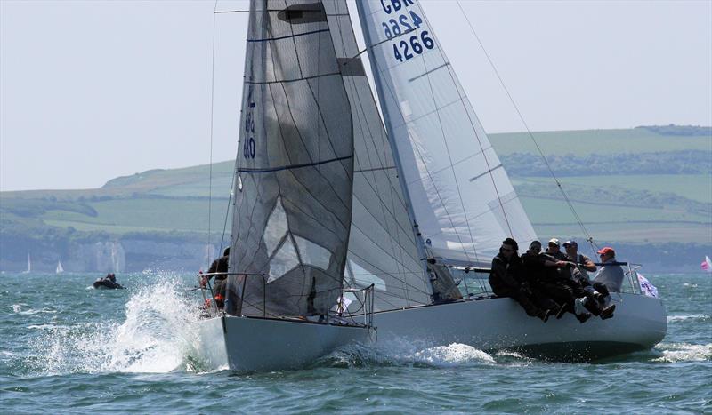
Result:
{"label": "white sail printed GBR 4266 on the right-hand boat", "polygon": [[357,2],[417,225],[437,256],[489,263],[536,239],[505,169],[417,0]]}

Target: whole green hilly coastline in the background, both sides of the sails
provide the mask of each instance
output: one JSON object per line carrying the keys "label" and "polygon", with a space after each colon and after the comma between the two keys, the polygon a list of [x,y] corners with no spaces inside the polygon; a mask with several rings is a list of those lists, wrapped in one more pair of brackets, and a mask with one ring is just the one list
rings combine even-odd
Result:
{"label": "whole green hilly coastline in the background, both sides of the sails", "polygon": [[[709,128],[532,135],[597,241],[692,243],[712,251]],[[582,238],[583,231],[530,135],[492,134],[490,140],[538,235]],[[79,241],[205,243],[208,229],[211,241],[220,239],[233,169],[232,161],[214,164],[212,187],[210,167],[199,165],[140,172],[96,189],[0,193],[0,268],[26,262],[27,252],[40,245],[43,250],[69,252],[76,251]],[[57,253],[46,260],[60,257]]]}

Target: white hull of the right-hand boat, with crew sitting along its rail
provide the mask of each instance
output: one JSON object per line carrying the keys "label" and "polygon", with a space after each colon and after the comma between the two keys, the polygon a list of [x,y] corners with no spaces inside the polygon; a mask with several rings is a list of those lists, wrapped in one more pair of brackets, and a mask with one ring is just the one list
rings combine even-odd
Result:
{"label": "white hull of the right-hand boat, with crew sitting along its rail", "polygon": [[591,317],[586,323],[569,313],[544,323],[526,315],[513,299],[479,299],[376,313],[374,324],[378,344],[384,346],[404,340],[424,347],[462,343],[565,361],[645,350],[665,337],[667,314],[660,299],[632,294],[620,294],[620,299],[613,318]]}

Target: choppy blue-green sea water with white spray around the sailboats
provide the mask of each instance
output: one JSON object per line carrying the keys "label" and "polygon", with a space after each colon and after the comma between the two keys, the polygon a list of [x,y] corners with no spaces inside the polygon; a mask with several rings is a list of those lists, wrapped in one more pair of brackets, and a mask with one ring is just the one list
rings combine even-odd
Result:
{"label": "choppy blue-green sea water with white spray around the sailboats", "polygon": [[349,347],[308,369],[206,371],[190,275],[0,275],[0,411],[712,412],[712,276],[648,275],[667,338],[603,363],[546,363],[461,344]]}

